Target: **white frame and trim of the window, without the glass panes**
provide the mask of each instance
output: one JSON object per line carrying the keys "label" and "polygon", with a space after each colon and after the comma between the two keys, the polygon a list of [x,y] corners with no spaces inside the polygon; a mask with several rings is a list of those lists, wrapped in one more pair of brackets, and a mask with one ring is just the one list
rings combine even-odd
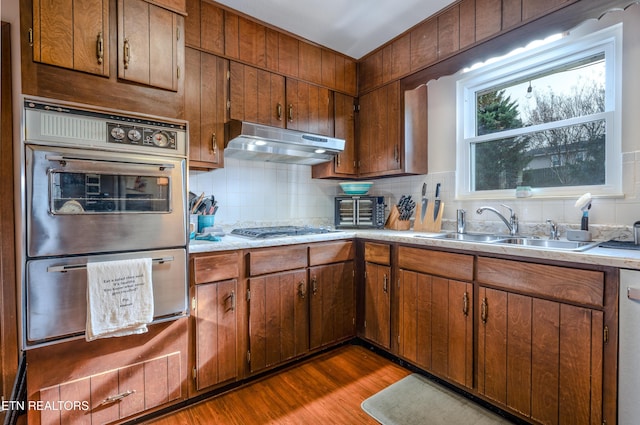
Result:
{"label": "white frame and trim of the window, without the glass panes", "polygon": [[[599,197],[622,197],[622,24],[616,24],[582,37],[568,35],[552,43],[509,54],[490,64],[462,74],[456,83],[456,199],[508,199],[515,196],[515,188],[507,190],[471,191],[471,142],[494,138],[495,134],[473,136],[475,132],[475,93],[483,88],[526,75],[535,74],[557,63],[567,62],[589,54],[604,52],[606,56],[605,112],[606,120],[606,183],[599,186],[571,186],[534,188],[536,198],[573,198],[585,192]],[[531,63],[534,62],[532,66]],[[471,117],[465,122],[465,116]],[[595,117],[595,116],[594,116]],[[569,122],[570,120],[567,120]],[[530,131],[533,127],[528,127]],[[512,131],[520,132],[520,130]],[[509,136],[504,132],[501,137]]]}

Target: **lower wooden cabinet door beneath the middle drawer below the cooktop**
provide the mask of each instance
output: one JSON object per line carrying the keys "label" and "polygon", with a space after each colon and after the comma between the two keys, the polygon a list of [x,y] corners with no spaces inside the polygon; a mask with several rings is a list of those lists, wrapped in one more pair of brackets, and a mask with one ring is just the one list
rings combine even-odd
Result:
{"label": "lower wooden cabinet door beneath the middle drawer below the cooktop", "polygon": [[249,361],[251,373],[309,350],[306,270],[249,279]]}

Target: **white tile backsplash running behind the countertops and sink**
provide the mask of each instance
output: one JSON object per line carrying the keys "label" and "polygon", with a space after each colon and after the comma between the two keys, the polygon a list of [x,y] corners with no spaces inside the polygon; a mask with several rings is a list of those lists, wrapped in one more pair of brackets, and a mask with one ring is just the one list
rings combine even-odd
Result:
{"label": "white tile backsplash running behind the countertops and sink", "polygon": [[[623,187],[625,197],[595,198],[590,211],[590,230],[596,239],[629,238],[630,227],[640,220],[640,152],[623,155]],[[443,228],[455,229],[456,209],[467,210],[468,230],[504,231],[504,224],[494,216],[477,216],[483,205],[515,209],[523,234],[546,235],[547,219],[558,223],[561,236],[567,228],[580,226],[581,212],[575,199],[516,198],[487,201],[455,199],[455,172],[430,173],[420,176],[376,179],[370,194],[382,195],[393,205],[401,195],[411,195],[419,203],[422,183],[427,183],[427,197],[433,199],[437,183],[445,204]],[[220,209],[216,225],[225,229],[263,225],[332,226],[334,197],[342,190],[337,180],[311,178],[307,165],[279,164],[229,158],[225,168],[209,172],[191,171],[189,189],[200,194],[215,195]]]}

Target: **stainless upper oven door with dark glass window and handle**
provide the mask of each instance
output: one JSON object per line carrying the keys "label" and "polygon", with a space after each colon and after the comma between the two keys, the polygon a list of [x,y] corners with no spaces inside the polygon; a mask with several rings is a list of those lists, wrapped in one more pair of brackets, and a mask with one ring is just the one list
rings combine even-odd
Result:
{"label": "stainless upper oven door with dark glass window and handle", "polygon": [[29,257],[186,245],[185,159],[25,149]]}

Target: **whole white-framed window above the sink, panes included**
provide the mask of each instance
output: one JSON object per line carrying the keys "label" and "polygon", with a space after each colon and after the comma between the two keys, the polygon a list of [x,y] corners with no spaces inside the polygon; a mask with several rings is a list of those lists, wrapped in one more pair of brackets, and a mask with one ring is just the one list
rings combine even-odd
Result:
{"label": "whole white-framed window above the sink, panes included", "polygon": [[621,193],[621,24],[522,49],[457,84],[457,196]]}

